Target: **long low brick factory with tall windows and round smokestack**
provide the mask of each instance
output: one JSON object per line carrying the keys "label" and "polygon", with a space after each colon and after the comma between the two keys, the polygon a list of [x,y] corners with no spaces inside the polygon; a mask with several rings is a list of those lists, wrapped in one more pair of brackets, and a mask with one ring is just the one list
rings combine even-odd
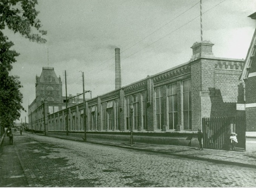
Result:
{"label": "long low brick factory with tall windows and round smokestack", "polygon": [[232,118],[245,116],[236,108],[244,103],[239,82],[244,60],[214,57],[213,45],[195,42],[190,61],[126,86],[121,85],[120,49],[115,49],[116,89],[86,100],[85,108],[83,103],[70,106],[68,118],[66,110],[53,111],[48,132],[81,137],[86,127],[87,138],[129,141],[132,126],[134,142],[195,147],[202,129],[205,147],[223,149],[236,124],[245,148],[244,121]]}

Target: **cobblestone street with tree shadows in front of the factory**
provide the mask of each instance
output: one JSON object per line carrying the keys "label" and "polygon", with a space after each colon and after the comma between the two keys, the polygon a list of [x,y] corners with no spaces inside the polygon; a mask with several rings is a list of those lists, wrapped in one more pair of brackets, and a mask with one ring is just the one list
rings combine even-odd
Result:
{"label": "cobblestone street with tree shadows in front of the factory", "polygon": [[[14,147],[31,187],[253,187],[256,184],[254,168],[27,133],[15,136],[14,145],[5,142],[3,147]],[[3,178],[15,181],[10,176]]]}

